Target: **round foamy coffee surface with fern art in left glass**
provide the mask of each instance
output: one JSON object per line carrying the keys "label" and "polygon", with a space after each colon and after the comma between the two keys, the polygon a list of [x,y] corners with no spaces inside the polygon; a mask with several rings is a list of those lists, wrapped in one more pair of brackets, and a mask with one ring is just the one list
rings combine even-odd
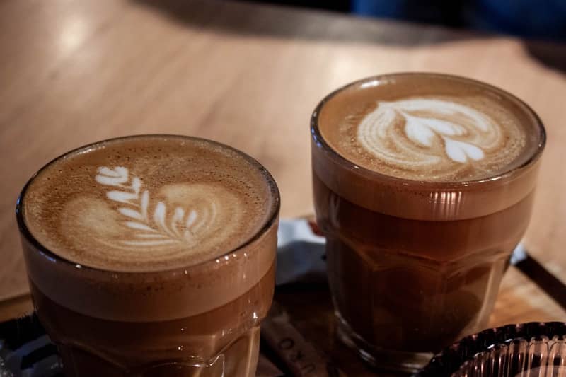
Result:
{"label": "round foamy coffee surface with fern art in left glass", "polygon": [[88,267],[195,265],[252,238],[272,207],[262,168],[211,141],[168,136],[93,144],[50,163],[23,197],[30,233]]}

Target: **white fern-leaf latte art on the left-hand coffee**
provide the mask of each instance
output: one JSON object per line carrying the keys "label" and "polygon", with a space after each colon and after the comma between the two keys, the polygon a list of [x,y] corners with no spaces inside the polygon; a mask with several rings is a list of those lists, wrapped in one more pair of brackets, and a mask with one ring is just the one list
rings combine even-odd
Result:
{"label": "white fern-leaf latte art on the left-hand coffee", "polygon": [[[122,247],[159,248],[180,243],[192,246],[213,231],[219,221],[218,207],[222,198],[211,198],[210,187],[202,183],[166,187],[170,197],[197,206],[184,208],[178,205],[171,207],[161,200],[151,204],[149,190],[142,189],[141,179],[130,176],[123,166],[98,168],[96,182],[113,187],[106,192],[106,197],[120,204],[117,211],[131,236],[117,240]],[[229,195],[223,197],[229,199]]]}

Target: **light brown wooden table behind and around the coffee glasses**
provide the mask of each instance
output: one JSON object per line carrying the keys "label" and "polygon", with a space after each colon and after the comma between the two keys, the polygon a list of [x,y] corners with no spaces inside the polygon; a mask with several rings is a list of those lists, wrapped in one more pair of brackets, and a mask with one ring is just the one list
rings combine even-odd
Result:
{"label": "light brown wooden table behind and around the coffee glasses", "polygon": [[[207,137],[275,175],[282,216],[308,214],[311,111],[338,86],[391,71],[470,76],[541,115],[548,145],[525,243],[566,282],[564,46],[209,0],[4,0],[0,30],[0,320],[30,308],[13,209],[51,158],[125,134]],[[311,323],[294,315],[308,334]],[[512,269],[492,324],[565,318]]]}

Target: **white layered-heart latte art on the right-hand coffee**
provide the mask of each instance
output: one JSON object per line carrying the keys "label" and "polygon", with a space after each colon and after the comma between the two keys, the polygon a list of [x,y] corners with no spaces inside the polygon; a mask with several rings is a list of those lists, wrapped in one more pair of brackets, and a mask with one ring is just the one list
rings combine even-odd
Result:
{"label": "white layered-heart latte art on the right-hand coffee", "polygon": [[501,127],[474,108],[448,100],[379,101],[359,124],[366,151],[394,168],[452,171],[482,162],[504,144]]}

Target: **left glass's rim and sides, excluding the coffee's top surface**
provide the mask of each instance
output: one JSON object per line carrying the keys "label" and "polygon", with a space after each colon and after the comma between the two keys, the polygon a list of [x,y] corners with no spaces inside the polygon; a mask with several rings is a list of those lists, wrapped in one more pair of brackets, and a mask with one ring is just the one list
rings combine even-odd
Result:
{"label": "left glass's rim and sides, excluding the coffee's top surface", "polygon": [[[196,139],[127,138],[144,137]],[[59,158],[121,139],[83,146]],[[42,170],[25,185],[16,217],[30,291],[40,323],[57,344],[65,376],[255,376],[260,323],[275,289],[279,191],[260,163],[236,153],[257,167],[270,187],[272,205],[265,224],[246,243],[219,257],[158,272],[107,271],[48,250],[30,233],[23,216],[26,190]],[[223,278],[213,278],[219,275]],[[230,299],[221,301],[229,292]],[[173,318],[171,313],[186,315]]]}

